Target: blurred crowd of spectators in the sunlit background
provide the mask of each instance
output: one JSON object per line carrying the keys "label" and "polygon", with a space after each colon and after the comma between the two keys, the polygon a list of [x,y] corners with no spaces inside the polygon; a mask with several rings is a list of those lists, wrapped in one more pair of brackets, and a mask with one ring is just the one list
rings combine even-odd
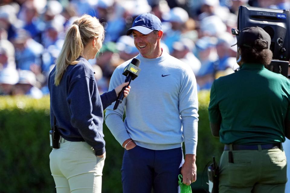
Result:
{"label": "blurred crowd of spectators in the sunlit background", "polygon": [[85,13],[106,31],[101,51],[89,61],[100,93],[108,91],[114,69],[139,53],[125,33],[147,12],[162,21],[163,51],[190,65],[199,90],[210,89],[215,78],[238,67],[231,29],[241,5],[290,9],[289,0],[1,0],[0,95],[48,94],[66,30]]}

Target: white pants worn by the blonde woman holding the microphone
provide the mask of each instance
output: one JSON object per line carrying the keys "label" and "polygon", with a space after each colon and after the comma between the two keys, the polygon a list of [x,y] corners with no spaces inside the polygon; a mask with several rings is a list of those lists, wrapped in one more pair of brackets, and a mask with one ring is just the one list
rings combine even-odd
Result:
{"label": "white pants worn by the blonde woman holding the microphone", "polygon": [[105,157],[96,157],[89,144],[62,139],[49,158],[57,193],[101,193]]}

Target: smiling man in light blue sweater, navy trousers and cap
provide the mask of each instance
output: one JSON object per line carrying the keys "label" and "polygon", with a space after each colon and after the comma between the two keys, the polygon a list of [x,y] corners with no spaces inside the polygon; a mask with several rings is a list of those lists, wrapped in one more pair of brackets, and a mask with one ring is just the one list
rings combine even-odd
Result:
{"label": "smiling man in light blue sweater, navy trousers and cap", "polygon": [[[125,148],[122,163],[124,193],[177,193],[178,175],[190,185],[196,180],[198,99],[191,68],[163,52],[161,21],[141,14],[127,35],[133,34],[142,69],[131,82],[130,95],[118,109],[106,109],[105,121]],[[114,71],[110,88],[124,82],[132,59]],[[126,119],[122,117],[126,108]],[[185,159],[182,143],[185,142]]]}

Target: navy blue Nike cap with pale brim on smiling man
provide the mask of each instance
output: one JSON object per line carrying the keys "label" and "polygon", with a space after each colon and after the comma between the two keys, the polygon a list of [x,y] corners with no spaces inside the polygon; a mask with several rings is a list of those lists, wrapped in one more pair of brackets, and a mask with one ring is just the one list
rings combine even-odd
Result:
{"label": "navy blue Nike cap with pale brim on smiling man", "polygon": [[153,30],[162,30],[162,25],[158,17],[150,13],[144,13],[136,17],[133,21],[132,27],[127,30],[127,36],[130,35],[133,30],[137,30],[143,34],[148,34]]}

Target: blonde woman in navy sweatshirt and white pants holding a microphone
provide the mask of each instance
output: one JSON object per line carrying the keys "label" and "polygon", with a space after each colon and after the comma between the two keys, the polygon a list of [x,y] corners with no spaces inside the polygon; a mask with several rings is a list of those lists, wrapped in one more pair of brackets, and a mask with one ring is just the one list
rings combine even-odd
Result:
{"label": "blonde woman in navy sweatshirt and white pants holding a microphone", "polygon": [[[55,122],[61,135],[60,148],[50,153],[57,193],[101,192],[105,161],[103,109],[127,85],[123,83],[99,95],[88,60],[95,58],[103,39],[104,28],[97,18],[83,15],[76,19],[49,75],[50,125]],[[129,91],[130,86],[124,96]]]}

